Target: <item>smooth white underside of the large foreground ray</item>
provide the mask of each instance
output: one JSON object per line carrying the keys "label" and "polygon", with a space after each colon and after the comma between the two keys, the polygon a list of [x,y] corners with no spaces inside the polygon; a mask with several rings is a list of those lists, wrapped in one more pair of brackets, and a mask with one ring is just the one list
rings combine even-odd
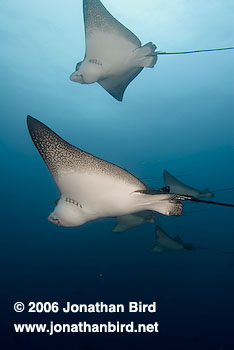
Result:
{"label": "smooth white underside of the large foreground ray", "polygon": [[[78,226],[101,217],[115,217],[143,210],[170,215],[178,204],[171,195],[147,195],[142,186],[104,174],[76,171],[60,173],[56,180],[62,196],[49,220],[63,226]],[[66,201],[72,199],[76,204]]]}

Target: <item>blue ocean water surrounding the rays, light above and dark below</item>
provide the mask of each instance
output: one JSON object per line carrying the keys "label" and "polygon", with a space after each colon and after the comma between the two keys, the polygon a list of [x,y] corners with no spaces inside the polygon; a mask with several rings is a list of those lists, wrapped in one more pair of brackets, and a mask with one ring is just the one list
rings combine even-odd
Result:
{"label": "blue ocean water surrounding the rays, light above and dark below", "polygon": [[[159,50],[234,44],[231,0],[103,4]],[[81,0],[2,0],[0,9],[1,348],[234,349],[234,255],[153,254],[154,224],[122,234],[112,232],[114,219],[51,224],[59,191],[26,127],[30,114],[137,177],[157,177],[146,180],[155,188],[164,186],[163,169],[196,188],[233,187],[234,52],[159,56],[120,103],[98,84],[69,80],[85,50]],[[234,203],[234,192],[217,192],[214,200]],[[158,223],[185,242],[234,251],[233,218],[233,208],[185,203],[184,215]],[[17,301],[157,301],[157,313],[32,316],[15,313]],[[49,336],[13,329],[50,320],[158,321],[159,333]]]}

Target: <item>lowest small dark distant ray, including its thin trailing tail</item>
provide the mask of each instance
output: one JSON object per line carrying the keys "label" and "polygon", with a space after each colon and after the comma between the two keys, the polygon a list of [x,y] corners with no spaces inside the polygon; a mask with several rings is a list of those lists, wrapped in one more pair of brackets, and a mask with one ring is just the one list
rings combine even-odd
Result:
{"label": "lowest small dark distant ray, including its thin trailing tail", "polygon": [[196,249],[208,250],[217,253],[224,254],[234,254],[232,251],[226,251],[221,249],[213,249],[213,248],[205,248],[194,246],[191,243],[184,243],[184,241],[180,238],[180,236],[171,237],[169,236],[160,226],[156,226],[155,228],[155,238],[156,244],[152,247],[152,252],[155,253],[163,253],[163,252],[172,252],[172,251],[182,251],[182,250],[190,250],[195,251]]}

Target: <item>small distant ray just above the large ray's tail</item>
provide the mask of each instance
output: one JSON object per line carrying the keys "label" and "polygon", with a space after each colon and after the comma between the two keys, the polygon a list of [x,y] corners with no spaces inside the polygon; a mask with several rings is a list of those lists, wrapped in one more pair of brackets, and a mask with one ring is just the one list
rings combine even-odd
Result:
{"label": "small distant ray just above the large ray's tail", "polygon": [[210,192],[208,188],[201,191],[191,186],[185,185],[183,182],[179,181],[175,176],[171,175],[167,170],[164,170],[163,178],[164,178],[165,186],[170,187],[171,193],[191,195],[195,198],[202,198],[202,197],[211,198],[214,196],[214,194]]}

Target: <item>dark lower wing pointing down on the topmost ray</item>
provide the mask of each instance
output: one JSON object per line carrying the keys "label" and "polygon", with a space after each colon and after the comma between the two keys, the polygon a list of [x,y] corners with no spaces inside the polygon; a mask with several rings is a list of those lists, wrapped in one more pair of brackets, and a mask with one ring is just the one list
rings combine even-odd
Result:
{"label": "dark lower wing pointing down on the topmost ray", "polygon": [[107,91],[111,96],[118,101],[123,100],[123,94],[127,86],[133,79],[142,71],[143,67],[133,68],[125,74],[118,76],[110,76],[106,79],[98,81],[98,83]]}

